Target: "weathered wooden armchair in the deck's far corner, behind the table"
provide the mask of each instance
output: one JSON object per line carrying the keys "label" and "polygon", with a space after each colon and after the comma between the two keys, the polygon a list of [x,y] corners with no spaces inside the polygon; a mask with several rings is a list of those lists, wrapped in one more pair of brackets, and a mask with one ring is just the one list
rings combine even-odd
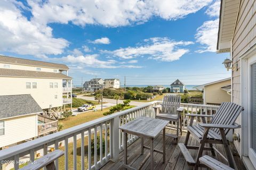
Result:
{"label": "weathered wooden armchair in the deck's far corner, behind the table", "polygon": [[156,117],[166,121],[175,122],[177,125],[176,134],[167,134],[167,136],[175,139],[178,142],[179,130],[180,135],[182,135],[182,122],[181,122],[181,112],[183,112],[183,107],[180,107],[181,96],[166,95],[163,99],[162,105],[155,106]]}

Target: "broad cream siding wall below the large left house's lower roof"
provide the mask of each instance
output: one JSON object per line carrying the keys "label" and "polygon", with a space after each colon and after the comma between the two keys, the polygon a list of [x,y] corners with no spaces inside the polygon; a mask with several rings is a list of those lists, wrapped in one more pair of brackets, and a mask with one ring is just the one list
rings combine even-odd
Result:
{"label": "broad cream siding wall below the large left house's lower roof", "polygon": [[[61,79],[37,79],[37,78],[10,78],[0,77],[0,95],[30,94],[42,108],[62,106],[62,80]],[[26,88],[26,82],[30,82],[31,88]],[[37,88],[33,89],[33,82]],[[50,88],[50,82],[58,83],[58,88]],[[55,99],[55,95],[58,95]]]}

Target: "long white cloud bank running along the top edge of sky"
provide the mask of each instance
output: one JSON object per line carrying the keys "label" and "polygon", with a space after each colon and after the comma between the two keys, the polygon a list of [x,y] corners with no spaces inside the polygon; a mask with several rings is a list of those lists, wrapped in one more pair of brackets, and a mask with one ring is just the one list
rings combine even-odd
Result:
{"label": "long white cloud bank running along the top edge of sky", "polygon": [[143,23],[153,16],[166,20],[183,18],[195,13],[212,0],[28,0],[33,21],[46,25],[57,22],[76,25],[101,24],[106,27],[119,27],[133,23]]}

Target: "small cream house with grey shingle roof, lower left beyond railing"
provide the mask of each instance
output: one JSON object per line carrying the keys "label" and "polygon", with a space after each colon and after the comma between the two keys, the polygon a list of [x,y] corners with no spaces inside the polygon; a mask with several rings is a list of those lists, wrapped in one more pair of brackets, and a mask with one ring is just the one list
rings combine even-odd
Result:
{"label": "small cream house with grey shingle roof, lower left beyond railing", "polygon": [[0,96],[0,148],[37,137],[42,108],[31,95]]}

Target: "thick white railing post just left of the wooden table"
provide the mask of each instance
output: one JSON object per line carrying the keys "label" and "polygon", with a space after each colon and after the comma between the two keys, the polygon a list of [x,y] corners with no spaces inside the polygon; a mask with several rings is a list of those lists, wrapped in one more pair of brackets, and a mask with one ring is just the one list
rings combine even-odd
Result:
{"label": "thick white railing post just left of the wooden table", "polygon": [[119,116],[111,120],[111,161],[116,162],[119,157]]}

